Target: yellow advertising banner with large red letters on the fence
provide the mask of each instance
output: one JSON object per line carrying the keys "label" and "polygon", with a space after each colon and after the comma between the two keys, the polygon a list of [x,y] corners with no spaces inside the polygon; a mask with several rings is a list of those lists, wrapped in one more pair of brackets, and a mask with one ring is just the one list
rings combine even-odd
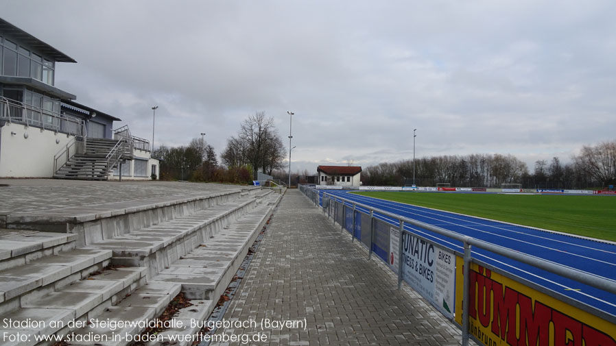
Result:
{"label": "yellow advertising banner with large red letters on the fence", "polygon": [[[455,266],[455,321],[462,325],[464,260]],[[472,264],[469,331],[486,346],[616,346],[616,325]]]}

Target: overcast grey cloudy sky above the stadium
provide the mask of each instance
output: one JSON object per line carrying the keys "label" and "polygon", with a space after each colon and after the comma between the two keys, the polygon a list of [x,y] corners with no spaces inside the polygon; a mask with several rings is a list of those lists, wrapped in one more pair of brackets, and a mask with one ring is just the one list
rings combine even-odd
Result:
{"label": "overcast grey cloudy sky above the stadium", "polygon": [[[27,1],[0,16],[78,61],[56,86],[155,144],[217,153],[264,111],[292,170],[528,162],[616,139],[616,2]],[[288,149],[288,148],[287,148]]]}

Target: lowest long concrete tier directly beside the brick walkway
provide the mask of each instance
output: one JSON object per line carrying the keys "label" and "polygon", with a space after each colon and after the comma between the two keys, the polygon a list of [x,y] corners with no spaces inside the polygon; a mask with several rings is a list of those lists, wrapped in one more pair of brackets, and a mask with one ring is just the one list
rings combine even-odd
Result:
{"label": "lowest long concrete tier directly beside the brick walkway", "polygon": [[[279,196],[270,196],[275,202]],[[217,300],[268,221],[274,206],[261,205],[187,255],[169,264],[152,282],[177,282],[189,299]]]}

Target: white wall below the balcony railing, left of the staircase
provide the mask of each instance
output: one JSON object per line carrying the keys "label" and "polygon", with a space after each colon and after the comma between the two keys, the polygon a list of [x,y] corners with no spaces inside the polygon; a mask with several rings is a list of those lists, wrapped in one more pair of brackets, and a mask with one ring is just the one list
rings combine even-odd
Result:
{"label": "white wall below the balcony railing, left of the staircase", "polygon": [[0,127],[0,177],[53,177],[54,156],[71,139],[60,132],[5,123]]}

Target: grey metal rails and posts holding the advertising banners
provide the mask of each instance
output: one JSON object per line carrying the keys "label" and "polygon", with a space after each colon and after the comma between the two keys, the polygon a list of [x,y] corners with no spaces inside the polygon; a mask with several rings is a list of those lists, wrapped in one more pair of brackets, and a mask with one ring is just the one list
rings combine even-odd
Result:
{"label": "grey metal rails and posts holding the advertising banners", "polygon": [[[568,279],[575,280],[576,282],[580,282],[582,284],[586,284],[588,286],[592,286],[594,288],[598,288],[602,291],[606,291],[608,293],[612,293],[616,295],[616,282],[612,280],[608,280],[604,277],[592,275],[590,273],[586,273],[584,271],[578,271],[578,270],[575,270],[569,267],[563,267],[554,262],[549,262],[547,260],[542,260],[541,258],[536,258],[534,256],[522,254],[517,251],[512,251],[505,247],[501,247],[499,245],[488,243],[484,240],[479,240],[479,239],[471,238],[469,236],[464,236],[462,234],[451,232],[451,231],[442,229],[440,227],[429,225],[427,223],[423,223],[423,222],[420,222],[414,219],[402,217],[392,212],[380,210],[378,208],[374,208],[372,206],[368,206],[363,203],[357,203],[350,199],[344,199],[342,197],[330,195],[327,192],[324,192],[321,195],[321,193],[314,188],[300,186],[300,190],[315,204],[315,206],[322,208],[323,213],[327,212],[328,216],[331,217],[331,219],[333,220],[333,223],[340,224],[341,231],[346,228],[346,230],[348,230],[348,232],[350,232],[352,235],[352,241],[354,241],[357,238],[361,241],[362,244],[366,245],[369,249],[368,250],[369,259],[372,258],[373,249],[378,250],[378,249],[383,249],[383,247],[389,249],[389,246],[390,246],[389,239],[380,239],[380,240],[375,239],[375,228],[379,227],[379,223],[386,223],[388,227],[391,227],[391,226],[399,227],[401,240],[399,241],[399,249],[398,249],[398,254],[399,254],[399,266],[398,266],[399,268],[398,268],[398,273],[397,273],[398,288],[401,287],[401,283],[403,281],[403,278],[402,278],[403,266],[401,265],[403,262],[403,258],[402,258],[403,257],[403,251],[402,251],[403,233],[412,234],[412,236],[414,237],[422,238],[423,240],[427,240],[427,241],[430,241],[431,243],[434,243],[433,240],[428,240],[427,238],[420,236],[419,234],[410,232],[409,230],[405,230],[404,229],[405,225],[414,225],[416,227],[423,228],[424,230],[428,230],[430,232],[434,232],[442,236],[447,236],[453,240],[458,240],[462,242],[464,252],[460,253],[459,251],[454,250],[455,254],[458,256],[461,256],[464,260],[464,264],[463,264],[464,265],[463,267],[463,277],[464,277],[463,297],[464,299],[462,301],[462,304],[463,304],[462,305],[462,325],[460,326],[458,325],[458,323],[455,323],[455,324],[458,325],[458,327],[462,328],[462,345],[464,346],[469,345],[469,338],[473,338],[473,340],[481,343],[481,341],[478,341],[477,338],[475,338],[475,336],[472,336],[471,333],[469,332],[469,300],[470,299],[468,299],[468,297],[469,297],[470,289],[471,289],[470,288],[470,278],[469,278],[470,277],[469,271],[471,268],[471,263],[474,262],[484,267],[492,267],[489,264],[482,262],[482,260],[479,260],[478,258],[473,257],[473,251],[472,251],[473,247],[477,247],[479,249],[490,251],[493,254],[505,256],[506,258],[516,260],[517,262],[529,264],[532,267],[543,269],[550,273],[554,273],[562,277],[567,277]],[[348,216],[349,214],[351,215],[351,217]],[[357,214],[360,215],[359,222],[357,220]],[[389,217],[393,219],[394,222],[393,223],[386,222],[386,221],[377,219],[377,217],[375,217],[375,214]],[[366,222],[369,224],[368,231],[364,231],[364,227],[361,226],[362,224],[365,225]],[[358,224],[359,224],[359,227],[358,227]],[[383,226],[381,225],[381,227]],[[365,235],[368,235],[366,237],[367,239],[364,238]],[[383,256],[381,256],[382,254],[378,254],[378,255],[379,255],[379,258],[381,258],[381,260],[384,260],[385,262],[387,262],[387,260],[383,258]],[[503,271],[503,272],[507,273],[506,271]],[[512,274],[510,274],[510,276],[516,277],[515,275],[512,275]],[[532,284],[532,283],[529,282],[529,284]],[[606,319],[610,321],[611,323],[616,323],[616,317],[614,317],[611,314],[608,314],[607,312],[603,312],[602,310],[599,310],[592,306],[583,304],[570,297],[567,297],[566,295],[562,295],[561,293],[551,291],[548,288],[542,288],[541,286],[538,286],[538,285],[535,285],[534,288],[540,291],[541,290],[549,291],[549,294],[552,295],[553,297],[558,297],[558,299],[567,301],[569,304],[576,306],[577,308],[580,308],[587,312],[591,312],[591,314],[600,316],[601,318]]]}

